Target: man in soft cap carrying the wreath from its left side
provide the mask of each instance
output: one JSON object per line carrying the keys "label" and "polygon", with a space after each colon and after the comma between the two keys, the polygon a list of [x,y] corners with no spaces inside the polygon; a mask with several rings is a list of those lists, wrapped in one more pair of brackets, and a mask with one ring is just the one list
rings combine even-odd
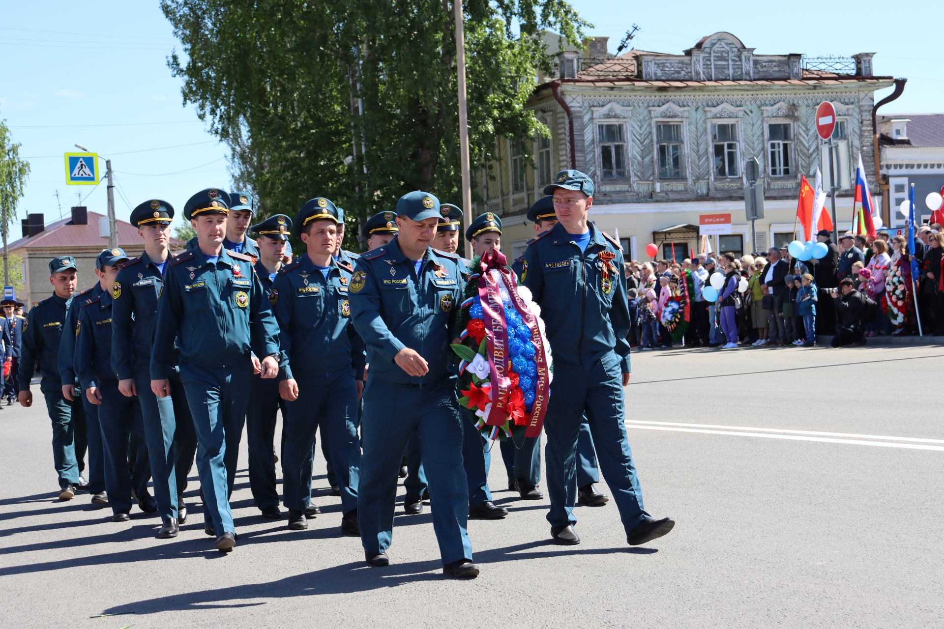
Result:
{"label": "man in soft cap carrying the wreath from its left side", "polygon": [[366,341],[358,513],[368,565],[389,564],[396,470],[418,435],[429,473],[432,522],[443,571],[474,577],[466,531],[463,422],[448,347],[464,289],[459,258],[430,248],[439,201],[413,191],[396,202],[396,239],[361,256],[350,282],[351,315]]}

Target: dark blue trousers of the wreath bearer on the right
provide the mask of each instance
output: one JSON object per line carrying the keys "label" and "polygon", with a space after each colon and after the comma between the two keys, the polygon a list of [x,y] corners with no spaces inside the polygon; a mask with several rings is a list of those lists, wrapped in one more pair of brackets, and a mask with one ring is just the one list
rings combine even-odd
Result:
{"label": "dark blue trousers of the wreath bearer on the right", "polygon": [[577,440],[584,413],[597,447],[600,470],[614,493],[624,528],[631,531],[649,515],[643,509],[623,424],[624,412],[619,356],[611,352],[582,365],[555,358],[554,384],[544,422],[548,435],[548,521],[552,526],[577,522],[573,514],[577,500]]}

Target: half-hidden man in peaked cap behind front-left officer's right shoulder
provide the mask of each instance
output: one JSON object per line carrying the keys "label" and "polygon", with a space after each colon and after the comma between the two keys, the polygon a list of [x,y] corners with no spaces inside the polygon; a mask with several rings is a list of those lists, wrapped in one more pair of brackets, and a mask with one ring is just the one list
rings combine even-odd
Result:
{"label": "half-hidden man in peaked cap behind front-left officer's right shoulder", "polygon": [[[278,272],[283,268],[282,260],[292,233],[292,219],[285,214],[275,214],[251,227],[256,234],[259,261],[256,273],[270,306],[278,302],[278,292],[273,292]],[[285,418],[289,403],[278,394],[278,379],[262,379],[252,376],[249,390],[249,407],[245,414],[246,439],[249,440],[249,489],[252,501],[267,520],[279,520],[278,488],[276,488],[276,454],[273,441],[276,437],[278,411],[282,413],[282,437],[278,452],[285,459]]]}

